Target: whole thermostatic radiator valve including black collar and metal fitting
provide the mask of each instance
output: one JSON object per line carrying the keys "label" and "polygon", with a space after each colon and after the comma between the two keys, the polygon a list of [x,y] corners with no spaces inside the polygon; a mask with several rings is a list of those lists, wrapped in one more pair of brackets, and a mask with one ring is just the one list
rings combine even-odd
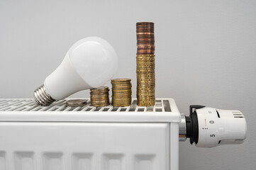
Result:
{"label": "whole thermostatic radiator valve including black collar and metal fitting", "polygon": [[181,114],[179,141],[190,138],[196,147],[241,144],[246,137],[247,125],[240,111],[221,110],[200,105],[189,108],[189,116]]}

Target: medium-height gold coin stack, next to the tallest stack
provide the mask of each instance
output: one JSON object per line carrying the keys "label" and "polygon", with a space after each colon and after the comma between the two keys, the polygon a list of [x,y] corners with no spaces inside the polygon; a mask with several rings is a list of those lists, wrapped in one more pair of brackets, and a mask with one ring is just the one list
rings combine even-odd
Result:
{"label": "medium-height gold coin stack, next to the tallest stack", "polygon": [[130,106],[132,84],[130,79],[112,79],[112,106]]}

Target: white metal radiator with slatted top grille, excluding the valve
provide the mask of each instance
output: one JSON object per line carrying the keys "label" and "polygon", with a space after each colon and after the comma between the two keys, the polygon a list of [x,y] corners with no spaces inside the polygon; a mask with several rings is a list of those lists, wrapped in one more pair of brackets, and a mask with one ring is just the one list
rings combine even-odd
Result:
{"label": "white metal radiator with slatted top grille, excluding the valve", "polygon": [[0,170],[178,170],[179,110],[0,99]]}

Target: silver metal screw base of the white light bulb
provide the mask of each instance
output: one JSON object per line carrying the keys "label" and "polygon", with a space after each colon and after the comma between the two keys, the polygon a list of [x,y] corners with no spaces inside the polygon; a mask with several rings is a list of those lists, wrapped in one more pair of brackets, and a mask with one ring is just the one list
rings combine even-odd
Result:
{"label": "silver metal screw base of the white light bulb", "polygon": [[35,102],[40,106],[49,106],[51,103],[56,101],[53,99],[45,90],[45,85],[38,87],[34,91]]}

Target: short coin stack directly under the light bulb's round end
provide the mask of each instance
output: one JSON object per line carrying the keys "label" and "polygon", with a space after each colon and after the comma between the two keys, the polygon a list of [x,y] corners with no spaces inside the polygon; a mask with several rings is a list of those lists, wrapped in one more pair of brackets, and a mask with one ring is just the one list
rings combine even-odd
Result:
{"label": "short coin stack directly under the light bulb's round end", "polygon": [[104,107],[109,105],[108,87],[101,86],[96,89],[90,89],[91,105],[95,107]]}

